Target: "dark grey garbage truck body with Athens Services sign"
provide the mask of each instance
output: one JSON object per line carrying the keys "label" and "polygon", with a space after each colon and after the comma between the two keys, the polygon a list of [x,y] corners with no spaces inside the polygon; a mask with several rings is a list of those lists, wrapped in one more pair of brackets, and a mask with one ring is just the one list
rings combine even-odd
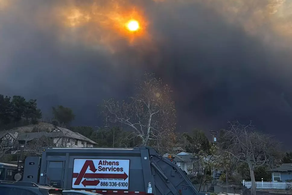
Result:
{"label": "dark grey garbage truck body with Athens Services sign", "polygon": [[43,149],[25,159],[22,181],[101,194],[201,195],[186,174],[151,147]]}

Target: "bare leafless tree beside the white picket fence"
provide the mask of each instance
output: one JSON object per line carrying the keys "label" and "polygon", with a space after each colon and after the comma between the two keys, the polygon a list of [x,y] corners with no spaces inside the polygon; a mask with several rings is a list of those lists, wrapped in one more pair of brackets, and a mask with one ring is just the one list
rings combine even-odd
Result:
{"label": "bare leafless tree beside the white picket fence", "polygon": [[230,128],[223,131],[222,145],[225,152],[249,166],[251,194],[256,195],[254,170],[260,166],[273,166],[279,159],[280,142],[270,135],[255,131],[250,124],[229,122]]}

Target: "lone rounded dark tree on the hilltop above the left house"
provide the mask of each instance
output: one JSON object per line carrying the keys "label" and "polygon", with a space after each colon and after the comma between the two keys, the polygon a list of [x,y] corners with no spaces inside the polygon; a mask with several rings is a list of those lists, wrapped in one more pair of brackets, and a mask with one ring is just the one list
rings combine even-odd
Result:
{"label": "lone rounded dark tree on the hilltop above the left house", "polygon": [[60,125],[69,125],[71,121],[75,119],[75,115],[72,109],[58,105],[57,108],[52,107],[54,118]]}

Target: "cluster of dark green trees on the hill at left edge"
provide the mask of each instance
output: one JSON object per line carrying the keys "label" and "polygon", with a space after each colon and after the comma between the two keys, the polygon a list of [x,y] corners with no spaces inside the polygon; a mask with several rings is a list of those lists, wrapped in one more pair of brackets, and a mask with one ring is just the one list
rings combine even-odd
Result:
{"label": "cluster of dark green trees on the hill at left edge", "polygon": [[11,99],[0,95],[0,127],[15,126],[22,119],[36,124],[39,118],[42,118],[42,112],[37,108],[36,99],[26,101],[23,96],[13,96]]}

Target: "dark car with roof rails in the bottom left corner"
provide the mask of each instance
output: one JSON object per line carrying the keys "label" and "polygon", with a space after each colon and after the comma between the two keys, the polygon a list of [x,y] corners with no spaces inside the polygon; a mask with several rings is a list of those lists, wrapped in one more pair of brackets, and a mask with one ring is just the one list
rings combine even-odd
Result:
{"label": "dark car with roof rails in the bottom left corner", "polygon": [[1,195],[63,195],[62,189],[39,186],[33,182],[0,181]]}

